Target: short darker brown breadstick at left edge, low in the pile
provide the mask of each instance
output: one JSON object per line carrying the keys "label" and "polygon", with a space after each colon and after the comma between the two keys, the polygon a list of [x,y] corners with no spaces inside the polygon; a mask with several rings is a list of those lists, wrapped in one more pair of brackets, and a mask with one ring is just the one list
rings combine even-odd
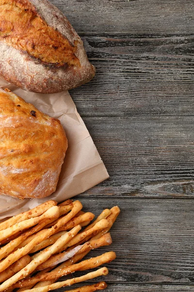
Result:
{"label": "short darker brown breadstick at left edge, low in the pile", "polygon": [[11,265],[8,269],[0,273],[0,283],[5,280],[11,278],[14,274],[19,272],[25,266],[27,266],[31,262],[31,257],[26,255],[22,256],[18,259],[13,265]]}

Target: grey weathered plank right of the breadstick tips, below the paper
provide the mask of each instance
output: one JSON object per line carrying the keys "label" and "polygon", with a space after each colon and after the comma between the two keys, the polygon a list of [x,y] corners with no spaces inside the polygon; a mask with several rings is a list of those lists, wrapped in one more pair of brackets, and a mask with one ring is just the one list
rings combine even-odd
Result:
{"label": "grey weathered plank right of the breadstick tips, below the paper", "polygon": [[[129,283],[194,284],[194,200],[91,197],[77,196],[84,210],[99,214],[116,204],[121,208],[111,229],[112,245],[86,257],[116,252],[117,258],[106,265],[110,273],[105,277],[108,283],[119,284],[115,291]],[[74,276],[80,274],[85,272]]]}

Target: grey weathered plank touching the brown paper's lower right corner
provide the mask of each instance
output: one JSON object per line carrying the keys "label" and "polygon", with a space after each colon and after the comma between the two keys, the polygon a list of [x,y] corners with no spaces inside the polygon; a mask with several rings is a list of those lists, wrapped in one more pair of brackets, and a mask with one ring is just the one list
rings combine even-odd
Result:
{"label": "grey weathered plank touching the brown paper's lower right corner", "polygon": [[[194,118],[84,118],[110,179],[87,197],[194,198]],[[96,198],[97,198],[96,197]]]}

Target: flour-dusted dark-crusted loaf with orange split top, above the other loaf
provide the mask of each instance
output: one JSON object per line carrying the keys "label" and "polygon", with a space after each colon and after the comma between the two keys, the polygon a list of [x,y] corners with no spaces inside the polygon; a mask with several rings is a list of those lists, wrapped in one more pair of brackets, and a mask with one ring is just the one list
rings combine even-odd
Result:
{"label": "flour-dusted dark-crusted loaf with orange split top, above the other loaf", "polygon": [[94,77],[81,38],[47,0],[0,0],[0,74],[27,91],[54,93]]}

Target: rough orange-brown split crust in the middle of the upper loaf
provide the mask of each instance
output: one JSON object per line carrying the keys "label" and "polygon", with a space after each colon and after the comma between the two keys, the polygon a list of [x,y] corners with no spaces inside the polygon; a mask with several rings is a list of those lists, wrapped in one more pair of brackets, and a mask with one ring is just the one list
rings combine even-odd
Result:
{"label": "rough orange-brown split crust in the middle of the upper loaf", "polygon": [[0,40],[46,63],[80,66],[77,41],[70,44],[27,1],[0,0]]}

